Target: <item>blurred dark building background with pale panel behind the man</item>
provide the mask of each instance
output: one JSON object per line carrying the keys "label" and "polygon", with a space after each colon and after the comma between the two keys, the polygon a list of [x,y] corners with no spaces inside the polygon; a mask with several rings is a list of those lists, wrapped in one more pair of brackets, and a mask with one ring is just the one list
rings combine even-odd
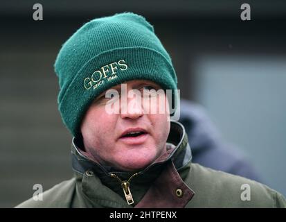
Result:
{"label": "blurred dark building background with pale panel behind the man", "polygon": [[[44,19],[33,20],[42,3]],[[251,21],[240,6],[249,3]],[[1,1],[0,207],[71,178],[71,135],[53,63],[95,17],[132,11],[154,25],[181,96],[204,105],[270,187],[286,195],[286,1]],[[190,145],[192,143],[190,142]]]}

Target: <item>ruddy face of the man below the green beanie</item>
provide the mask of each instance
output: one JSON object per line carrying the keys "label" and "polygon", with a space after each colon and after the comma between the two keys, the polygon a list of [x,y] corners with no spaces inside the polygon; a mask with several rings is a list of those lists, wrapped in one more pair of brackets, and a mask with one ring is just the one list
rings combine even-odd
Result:
{"label": "ruddy face of the man below the green beanie", "polygon": [[[148,96],[143,96],[144,89],[161,89],[156,83],[131,80],[126,82],[125,87],[128,96],[120,92],[121,85],[111,88],[120,94],[116,100],[119,102],[119,112],[107,112],[106,107],[108,104],[111,107],[111,99],[105,98],[103,92],[87,110],[81,132],[85,150],[100,164],[124,171],[136,171],[166,153],[166,140],[170,132],[169,105],[164,93],[159,95],[151,92]],[[133,92],[140,92],[141,98],[138,94],[133,94],[130,98],[129,94],[132,95]],[[159,112],[162,98],[165,111]],[[156,112],[151,111],[151,108]]]}

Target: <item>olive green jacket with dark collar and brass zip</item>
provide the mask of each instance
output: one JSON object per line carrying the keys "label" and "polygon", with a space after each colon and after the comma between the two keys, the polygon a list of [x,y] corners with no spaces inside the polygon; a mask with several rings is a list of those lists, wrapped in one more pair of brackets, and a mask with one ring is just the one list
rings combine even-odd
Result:
{"label": "olive green jacket with dark collar and brass zip", "polygon": [[45,191],[43,200],[30,198],[17,207],[286,207],[285,198],[265,185],[193,164],[181,123],[171,123],[167,142],[165,156],[127,173],[102,167],[73,139],[75,176]]}

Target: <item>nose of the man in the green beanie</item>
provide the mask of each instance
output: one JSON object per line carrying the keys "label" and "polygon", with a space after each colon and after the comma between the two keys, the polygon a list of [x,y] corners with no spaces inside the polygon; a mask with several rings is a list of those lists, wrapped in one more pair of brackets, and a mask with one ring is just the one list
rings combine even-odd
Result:
{"label": "nose of the man in the green beanie", "polygon": [[122,119],[137,119],[143,116],[144,110],[142,106],[141,96],[134,96],[121,100],[120,116]]}

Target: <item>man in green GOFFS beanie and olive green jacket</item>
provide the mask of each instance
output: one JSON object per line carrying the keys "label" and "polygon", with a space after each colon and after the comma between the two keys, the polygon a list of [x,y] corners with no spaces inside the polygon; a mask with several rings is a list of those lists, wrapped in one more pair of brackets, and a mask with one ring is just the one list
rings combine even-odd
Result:
{"label": "man in green GOFFS beanie and olive green jacket", "polygon": [[265,185],[191,163],[184,127],[170,121],[177,76],[143,17],[85,24],[62,46],[55,72],[75,176],[18,207],[286,206]]}

